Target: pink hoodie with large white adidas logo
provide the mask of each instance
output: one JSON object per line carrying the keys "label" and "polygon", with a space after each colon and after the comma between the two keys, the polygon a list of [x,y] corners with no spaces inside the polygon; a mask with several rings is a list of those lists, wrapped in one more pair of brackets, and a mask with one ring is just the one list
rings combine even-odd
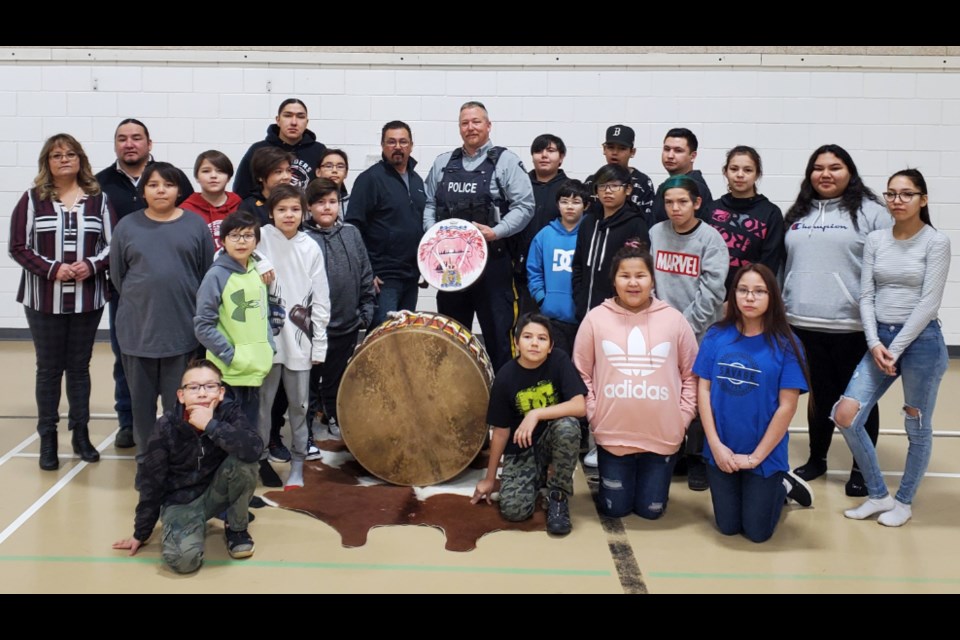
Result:
{"label": "pink hoodie with large white adidas logo", "polygon": [[697,338],[682,313],[652,300],[639,313],[604,300],[583,319],[573,348],[594,438],[618,454],[676,453],[697,411]]}

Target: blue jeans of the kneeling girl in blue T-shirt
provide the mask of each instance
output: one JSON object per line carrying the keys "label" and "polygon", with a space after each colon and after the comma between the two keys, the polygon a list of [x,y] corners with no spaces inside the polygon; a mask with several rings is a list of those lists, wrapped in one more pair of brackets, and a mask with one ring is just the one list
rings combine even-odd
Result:
{"label": "blue jeans of the kneeling girl in blue T-shirt", "polygon": [[751,542],[770,539],[777,523],[787,489],[783,473],[764,478],[759,473],[738,471],[724,473],[713,464],[707,465],[713,517],[720,533],[734,536],[742,533]]}

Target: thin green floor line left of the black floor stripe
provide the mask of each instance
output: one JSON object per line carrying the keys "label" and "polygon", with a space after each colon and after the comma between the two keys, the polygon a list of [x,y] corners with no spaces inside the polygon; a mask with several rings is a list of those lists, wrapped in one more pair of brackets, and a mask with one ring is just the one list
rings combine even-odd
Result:
{"label": "thin green floor line left of the black floor stripe", "polygon": [[[158,558],[130,556],[0,556],[0,562],[38,562],[75,564],[158,564]],[[607,570],[533,569],[521,567],[457,567],[415,564],[363,564],[359,562],[284,562],[270,560],[204,560],[208,566],[233,565],[271,569],[328,569],[352,571],[414,571],[421,573],[492,573],[534,576],[612,577]]]}

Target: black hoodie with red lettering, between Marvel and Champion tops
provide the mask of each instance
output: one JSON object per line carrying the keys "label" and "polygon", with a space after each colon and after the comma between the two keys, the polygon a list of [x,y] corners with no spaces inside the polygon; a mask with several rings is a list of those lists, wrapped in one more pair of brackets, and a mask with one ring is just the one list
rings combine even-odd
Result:
{"label": "black hoodie with red lettering, between Marvel and Champion tops", "polygon": [[730,270],[725,283],[728,291],[737,269],[745,264],[765,264],[774,275],[780,270],[786,257],[783,214],[766,196],[734,198],[724,194],[713,202],[705,220],[720,232],[730,252]]}

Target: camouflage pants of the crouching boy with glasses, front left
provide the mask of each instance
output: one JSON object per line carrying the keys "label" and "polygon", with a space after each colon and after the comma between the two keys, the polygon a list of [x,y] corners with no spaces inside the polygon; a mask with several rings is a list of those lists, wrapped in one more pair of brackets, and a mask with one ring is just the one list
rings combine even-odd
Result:
{"label": "camouflage pants of the crouching boy with glasses, front left", "polygon": [[160,511],[163,560],[177,573],[191,573],[203,564],[207,520],[227,510],[235,531],[247,528],[250,498],[257,488],[259,465],[236,456],[223,461],[210,486],[189,504],[170,504]]}

